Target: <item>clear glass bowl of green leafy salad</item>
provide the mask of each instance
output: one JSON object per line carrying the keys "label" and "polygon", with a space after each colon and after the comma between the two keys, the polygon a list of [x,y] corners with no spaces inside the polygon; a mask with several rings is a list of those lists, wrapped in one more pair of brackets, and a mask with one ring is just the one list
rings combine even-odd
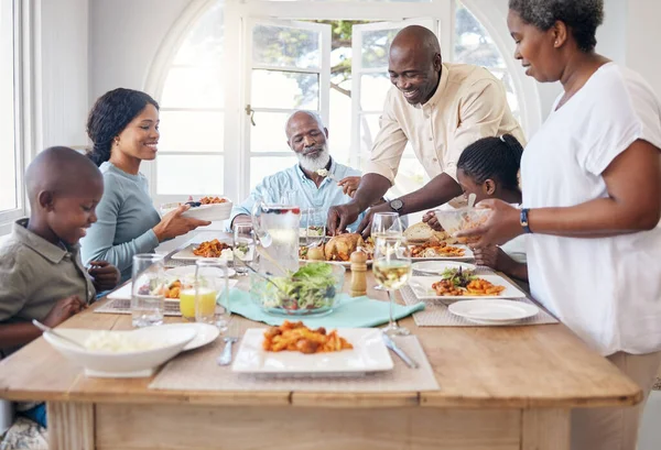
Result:
{"label": "clear glass bowl of green leafy salad", "polygon": [[307,263],[286,276],[250,274],[250,297],[264,311],[285,316],[328,314],[344,285],[346,270]]}

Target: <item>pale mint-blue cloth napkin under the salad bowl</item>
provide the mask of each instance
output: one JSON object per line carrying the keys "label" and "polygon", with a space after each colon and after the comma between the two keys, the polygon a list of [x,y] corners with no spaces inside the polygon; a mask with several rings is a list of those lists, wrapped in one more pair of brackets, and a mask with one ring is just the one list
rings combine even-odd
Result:
{"label": "pale mint-blue cloth napkin under the salad bowl", "polygon": [[[307,317],[280,316],[266,312],[250,298],[249,293],[241,289],[231,289],[229,293],[229,309],[247,319],[268,325],[278,326],[285,320],[301,320],[308,328],[367,328],[388,323],[390,318],[389,301],[375,300],[366,296],[350,297],[348,294],[339,295],[330,314]],[[411,306],[394,305],[392,315],[398,320],[421,309],[424,309],[423,301]]]}

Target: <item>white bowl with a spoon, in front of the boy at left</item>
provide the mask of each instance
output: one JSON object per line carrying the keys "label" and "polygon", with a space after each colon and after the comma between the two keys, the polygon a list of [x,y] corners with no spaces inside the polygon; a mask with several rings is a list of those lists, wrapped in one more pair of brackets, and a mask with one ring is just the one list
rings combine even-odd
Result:
{"label": "white bowl with a spoon, in front of the boy at left", "polygon": [[[56,331],[83,345],[93,333],[101,332],[100,330],[75,328],[58,328]],[[131,340],[155,342],[158,347],[123,352],[84,350],[48,332],[43,336],[59,353],[82,365],[87,376],[145,377],[153,375],[155,367],[174,358],[197,334],[197,330],[194,328],[184,327],[148,327],[130,331],[107,332],[123,333]]]}

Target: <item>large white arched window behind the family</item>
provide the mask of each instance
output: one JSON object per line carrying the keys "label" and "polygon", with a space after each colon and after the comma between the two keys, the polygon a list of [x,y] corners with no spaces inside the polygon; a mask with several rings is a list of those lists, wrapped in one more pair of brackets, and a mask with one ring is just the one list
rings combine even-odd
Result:
{"label": "large white arched window behind the family", "polygon": [[[192,3],[196,17],[182,18],[186,26],[173,29],[181,39],[171,41],[176,50],[164,46],[167,63],[155,64],[159,74],[150,74],[155,80],[151,91],[158,92],[162,106],[161,153],[152,173],[156,197],[230,194],[240,200],[264,175],[295,163],[283,127],[291,108],[301,107],[293,101],[297,97],[278,105],[267,101],[292,88],[310,94],[305,107],[326,120],[332,155],[362,166],[390,86],[387,59],[386,66],[375,66],[382,58],[365,65],[364,47],[375,37],[387,52],[397,30],[411,23],[403,19],[411,15],[438,34],[444,59],[485,66],[501,79],[524,129],[539,125],[537,90],[510,56],[513,43],[502,12],[490,3],[480,2],[478,8],[475,0],[392,1],[384,8],[380,1],[347,0],[344,4],[346,20],[337,19],[336,6],[314,0]],[[499,20],[492,22],[492,17]],[[283,45],[273,45],[277,42]],[[292,59],[291,48],[310,54]],[[257,57],[262,54],[270,59]],[[412,152],[405,152],[391,194],[405,194],[426,180]]]}

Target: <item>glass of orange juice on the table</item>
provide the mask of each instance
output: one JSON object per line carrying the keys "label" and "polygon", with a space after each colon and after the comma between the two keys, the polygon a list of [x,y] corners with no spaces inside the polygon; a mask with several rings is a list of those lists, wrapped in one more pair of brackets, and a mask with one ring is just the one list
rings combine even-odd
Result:
{"label": "glass of orange juice on the table", "polygon": [[[197,260],[193,293],[186,289],[180,294],[181,303],[189,301],[189,295],[193,294],[195,321],[214,325],[220,331],[227,330],[231,315],[227,273],[225,260]],[[182,316],[183,307],[182,305]]]}

